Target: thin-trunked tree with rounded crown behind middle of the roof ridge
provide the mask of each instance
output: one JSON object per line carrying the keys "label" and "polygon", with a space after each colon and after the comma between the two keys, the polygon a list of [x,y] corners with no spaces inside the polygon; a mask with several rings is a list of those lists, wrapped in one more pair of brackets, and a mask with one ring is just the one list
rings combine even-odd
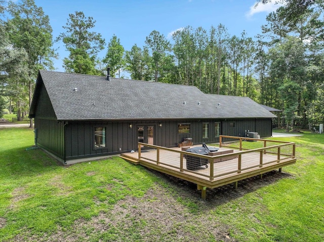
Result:
{"label": "thin-trunked tree with rounded crown behind middle of the roof ridge", "polygon": [[163,75],[165,66],[164,59],[167,57],[167,52],[171,51],[171,44],[163,34],[153,30],[145,40],[148,50],[152,56],[152,69],[154,70],[154,80]]}

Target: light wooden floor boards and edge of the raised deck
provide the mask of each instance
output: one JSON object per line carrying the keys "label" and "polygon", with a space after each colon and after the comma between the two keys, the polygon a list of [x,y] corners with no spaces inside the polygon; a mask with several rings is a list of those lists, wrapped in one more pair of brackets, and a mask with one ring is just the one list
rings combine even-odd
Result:
{"label": "light wooden floor boards and edge of the raised deck", "polygon": [[[226,150],[222,148],[223,150]],[[181,151],[181,148],[172,148],[171,150]],[[234,157],[230,160],[213,162],[213,176],[211,177],[211,164],[208,168],[203,166],[197,170],[191,171],[186,169],[186,159],[183,158],[183,167],[180,167],[180,153],[169,151],[169,149],[159,150],[157,159],[157,150],[146,150],[141,152],[124,153],[121,157],[133,164],[140,164],[153,170],[157,170],[193,183],[197,187],[216,188],[232,182],[237,182],[252,176],[279,169],[287,165],[296,163],[295,157],[280,157],[277,154],[266,153],[261,155],[260,151],[241,154],[241,164],[238,166],[238,154],[240,151],[234,150],[233,153],[223,155],[222,157]],[[216,160],[219,156],[210,159]],[[277,160],[277,158],[281,160]],[[202,191],[204,189],[201,189]],[[205,190],[204,190],[205,191]],[[203,193],[202,193],[203,195]]]}

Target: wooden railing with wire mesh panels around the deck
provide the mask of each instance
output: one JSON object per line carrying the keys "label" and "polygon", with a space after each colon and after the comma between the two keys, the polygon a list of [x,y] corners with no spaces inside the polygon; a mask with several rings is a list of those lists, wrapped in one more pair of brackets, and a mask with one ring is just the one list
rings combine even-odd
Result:
{"label": "wooden railing with wire mesh panels around the deck", "polygon": [[[224,142],[226,138],[231,139],[231,141]],[[258,169],[274,163],[284,163],[295,158],[295,143],[293,142],[266,139],[253,139],[252,141],[257,142],[251,142],[248,140],[252,139],[220,136],[220,148],[226,147],[237,150],[230,154],[217,156],[199,155],[139,142],[138,157],[140,162],[152,163],[175,171],[208,177],[211,181],[216,177]],[[262,147],[259,148],[261,141]],[[249,149],[251,147],[254,149]],[[209,167],[201,166],[195,170],[187,169],[185,155],[196,157],[198,160],[207,159]]]}

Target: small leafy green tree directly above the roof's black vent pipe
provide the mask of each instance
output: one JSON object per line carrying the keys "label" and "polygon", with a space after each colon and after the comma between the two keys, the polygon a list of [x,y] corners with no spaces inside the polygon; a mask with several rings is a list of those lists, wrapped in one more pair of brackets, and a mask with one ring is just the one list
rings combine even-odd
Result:
{"label": "small leafy green tree directly above the roof's black vent pipe", "polygon": [[106,57],[103,59],[103,63],[110,67],[112,77],[118,71],[118,78],[120,78],[120,69],[125,66],[124,52],[124,47],[120,44],[119,38],[113,35],[108,43]]}

